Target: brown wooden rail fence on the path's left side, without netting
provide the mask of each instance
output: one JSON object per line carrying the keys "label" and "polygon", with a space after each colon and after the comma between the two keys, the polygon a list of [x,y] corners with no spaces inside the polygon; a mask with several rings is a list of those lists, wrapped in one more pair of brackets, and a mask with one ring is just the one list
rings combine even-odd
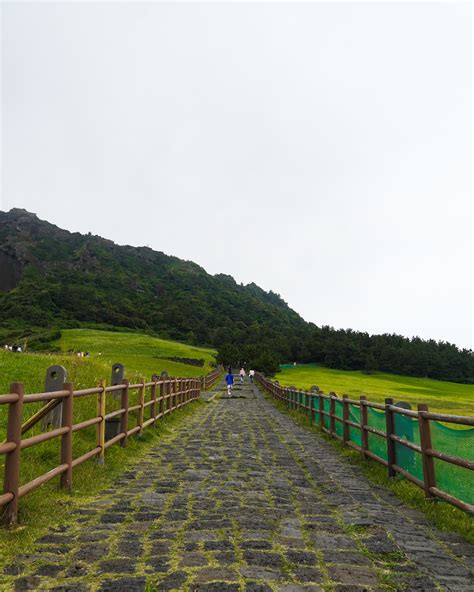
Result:
{"label": "brown wooden rail fence on the path's left side, without netting", "polygon": [[[16,524],[21,497],[55,477],[60,477],[61,488],[71,489],[74,468],[92,458],[103,464],[107,448],[118,443],[126,446],[131,436],[141,435],[161,418],[198,399],[201,391],[210,388],[221,374],[220,368],[201,378],[176,378],[163,374],[160,377],[154,375],[149,382],[130,384],[123,378],[120,364],[113,366],[112,382],[117,367],[121,373],[119,384],[106,386],[101,382],[96,387],[76,390],[72,384],[62,383],[57,390],[25,394],[22,383],[13,383],[10,393],[0,395],[0,408],[3,405],[8,407],[6,439],[0,442],[0,461],[2,456],[5,457],[0,514],[6,525]],[[54,375],[59,369],[65,377],[66,371],[62,367],[50,367],[48,372]],[[48,387],[48,378],[46,385]],[[77,421],[74,404],[83,397],[96,399],[96,414]],[[135,404],[131,404],[133,398],[137,401]],[[45,405],[23,423],[25,407],[38,402]],[[107,412],[107,407],[113,409]],[[23,437],[31,427],[39,425],[40,420],[41,433]],[[74,456],[73,435],[91,427],[95,427],[95,446]],[[59,464],[28,483],[20,484],[21,451],[54,439],[59,440]]]}

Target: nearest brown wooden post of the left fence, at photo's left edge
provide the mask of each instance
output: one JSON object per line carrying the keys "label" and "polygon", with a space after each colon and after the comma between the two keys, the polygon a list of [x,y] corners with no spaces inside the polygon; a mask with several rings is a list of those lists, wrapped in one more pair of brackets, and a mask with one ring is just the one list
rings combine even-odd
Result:
{"label": "nearest brown wooden post of the left fence, at photo's left edge", "polygon": [[7,526],[14,526],[18,515],[18,488],[20,486],[21,421],[25,395],[23,384],[20,382],[11,384],[10,393],[18,395],[18,400],[8,405],[7,420],[7,442],[13,442],[15,448],[5,455],[3,491],[13,495],[13,499],[6,507],[4,520]]}

